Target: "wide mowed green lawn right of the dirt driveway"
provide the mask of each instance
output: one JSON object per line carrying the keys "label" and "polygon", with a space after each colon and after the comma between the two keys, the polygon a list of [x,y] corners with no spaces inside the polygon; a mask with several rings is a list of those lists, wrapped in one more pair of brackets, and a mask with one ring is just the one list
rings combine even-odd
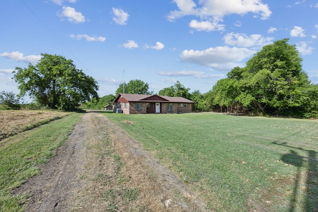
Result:
{"label": "wide mowed green lawn right of the dirt driveway", "polygon": [[318,121],[107,113],[215,211],[318,211]]}

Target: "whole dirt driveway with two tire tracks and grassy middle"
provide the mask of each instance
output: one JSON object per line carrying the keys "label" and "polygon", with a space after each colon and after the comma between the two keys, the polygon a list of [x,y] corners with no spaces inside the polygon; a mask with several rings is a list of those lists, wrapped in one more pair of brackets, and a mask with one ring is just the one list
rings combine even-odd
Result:
{"label": "whole dirt driveway with two tire tracks and grassy middle", "polygon": [[205,212],[206,204],[119,126],[85,113],[67,143],[16,193],[27,212]]}

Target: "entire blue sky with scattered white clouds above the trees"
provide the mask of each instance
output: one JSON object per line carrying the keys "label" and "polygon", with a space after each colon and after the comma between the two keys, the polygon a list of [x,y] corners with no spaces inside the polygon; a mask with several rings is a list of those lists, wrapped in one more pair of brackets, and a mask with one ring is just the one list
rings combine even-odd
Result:
{"label": "entire blue sky with scattered white clouds above the trees", "polygon": [[16,94],[12,71],[41,53],[73,60],[99,96],[131,79],[205,93],[283,38],[318,84],[317,0],[2,0],[0,32],[0,91]]}

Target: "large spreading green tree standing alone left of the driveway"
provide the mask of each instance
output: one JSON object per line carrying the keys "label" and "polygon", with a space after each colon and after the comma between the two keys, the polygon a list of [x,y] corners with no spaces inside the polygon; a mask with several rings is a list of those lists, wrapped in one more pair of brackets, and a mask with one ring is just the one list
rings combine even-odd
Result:
{"label": "large spreading green tree standing alone left of the driveway", "polygon": [[77,69],[72,60],[63,56],[41,54],[35,66],[16,67],[14,80],[20,89],[40,105],[53,109],[75,110],[81,102],[98,99],[98,85],[94,78]]}

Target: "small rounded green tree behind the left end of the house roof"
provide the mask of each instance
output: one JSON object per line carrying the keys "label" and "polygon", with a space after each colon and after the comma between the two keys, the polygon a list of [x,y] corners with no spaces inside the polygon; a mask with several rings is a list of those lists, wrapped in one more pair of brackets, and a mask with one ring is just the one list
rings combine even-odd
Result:
{"label": "small rounded green tree behind the left end of the house roof", "polygon": [[125,87],[125,93],[132,93],[132,94],[152,94],[152,91],[149,91],[149,84],[140,79],[132,79],[128,83],[121,83],[119,87],[116,90],[116,96],[119,93],[124,92]]}

